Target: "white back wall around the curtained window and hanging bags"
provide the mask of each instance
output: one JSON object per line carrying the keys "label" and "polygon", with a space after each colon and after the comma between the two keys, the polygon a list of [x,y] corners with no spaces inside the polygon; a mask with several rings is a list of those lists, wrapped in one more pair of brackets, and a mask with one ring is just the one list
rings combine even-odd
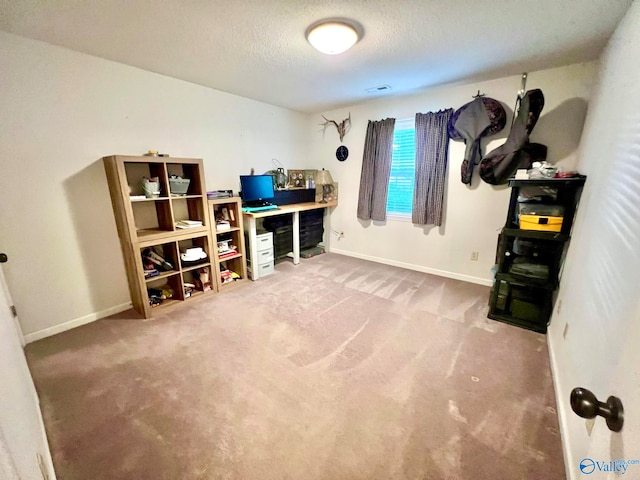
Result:
{"label": "white back wall around the curtained window and hanging bags", "polygon": [[[545,95],[545,107],[531,141],[549,147],[548,160],[571,169],[576,163],[595,63],[577,64],[551,70],[530,72],[527,89],[540,88]],[[331,112],[321,112],[327,118],[341,121],[351,113],[352,128],[344,144],[350,155],[338,162],[335,149],[340,140],[335,128],[322,134],[320,113],[311,116],[310,150],[316,168],[330,170],[339,183],[339,206],[331,217],[331,225],[344,232],[344,238],[331,237],[332,251],[415,270],[438,273],[477,283],[490,284],[491,267],[495,260],[497,237],[504,225],[509,190],[482,182],[474,174],[468,187],[460,181],[460,165],[464,144],[450,142],[448,180],[445,192],[445,217],[442,227],[419,227],[407,221],[388,220],[385,225],[361,222],[356,218],[362,151],[369,120],[386,117],[413,118],[416,112],[426,113],[452,107],[459,108],[472,100],[478,90],[499,100],[507,109],[510,125],[512,109],[520,76],[469,85],[447,86],[425,93],[382,98],[366,104]],[[484,149],[488,152],[501,145],[509,127],[490,137]],[[471,252],[479,252],[479,260],[471,261]]]}

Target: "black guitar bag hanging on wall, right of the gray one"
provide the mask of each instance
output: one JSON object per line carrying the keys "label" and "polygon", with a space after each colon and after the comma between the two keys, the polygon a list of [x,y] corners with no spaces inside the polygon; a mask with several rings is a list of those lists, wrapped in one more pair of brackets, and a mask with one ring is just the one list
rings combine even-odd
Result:
{"label": "black guitar bag hanging on wall, right of the gray one", "polygon": [[529,90],[524,94],[506,142],[485,155],[480,162],[480,177],[485,182],[492,185],[507,183],[518,167],[530,168],[533,162],[547,158],[545,145],[529,143],[529,135],[543,107],[542,90]]}

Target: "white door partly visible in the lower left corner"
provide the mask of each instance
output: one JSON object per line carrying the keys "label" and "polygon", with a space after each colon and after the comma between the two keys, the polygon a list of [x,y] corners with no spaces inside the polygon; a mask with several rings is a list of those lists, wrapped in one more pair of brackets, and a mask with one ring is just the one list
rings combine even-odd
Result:
{"label": "white door partly visible in the lower left corner", "polygon": [[55,480],[36,390],[0,269],[0,478]]}

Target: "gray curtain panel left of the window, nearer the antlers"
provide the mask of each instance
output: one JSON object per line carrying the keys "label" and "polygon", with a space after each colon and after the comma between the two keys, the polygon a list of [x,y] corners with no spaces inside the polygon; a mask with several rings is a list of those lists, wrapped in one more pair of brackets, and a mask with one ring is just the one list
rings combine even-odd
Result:
{"label": "gray curtain panel left of the window, nearer the antlers", "polygon": [[395,118],[369,120],[362,155],[358,218],[380,220],[387,218],[387,195],[393,153],[393,127]]}

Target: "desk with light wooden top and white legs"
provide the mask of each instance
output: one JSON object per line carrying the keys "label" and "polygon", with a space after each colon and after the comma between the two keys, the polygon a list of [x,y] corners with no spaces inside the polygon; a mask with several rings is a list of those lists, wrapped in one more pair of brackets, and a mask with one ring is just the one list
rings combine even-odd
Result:
{"label": "desk with light wooden top and white legs", "polygon": [[[273,217],[275,215],[293,215],[293,264],[300,263],[300,212],[305,210],[317,210],[319,208],[335,207],[338,205],[338,201],[334,200],[327,203],[320,202],[307,202],[307,203],[294,203],[292,205],[281,205],[278,210],[263,210],[262,212],[242,212],[244,219],[246,220],[246,228],[249,237],[249,253],[252,259],[258,258],[258,249],[256,244],[256,220],[258,218]],[[328,225],[326,221],[328,215],[325,214],[325,228]],[[329,228],[329,232],[330,232]],[[252,279],[258,280],[260,274],[256,265],[252,265],[251,273]]]}

